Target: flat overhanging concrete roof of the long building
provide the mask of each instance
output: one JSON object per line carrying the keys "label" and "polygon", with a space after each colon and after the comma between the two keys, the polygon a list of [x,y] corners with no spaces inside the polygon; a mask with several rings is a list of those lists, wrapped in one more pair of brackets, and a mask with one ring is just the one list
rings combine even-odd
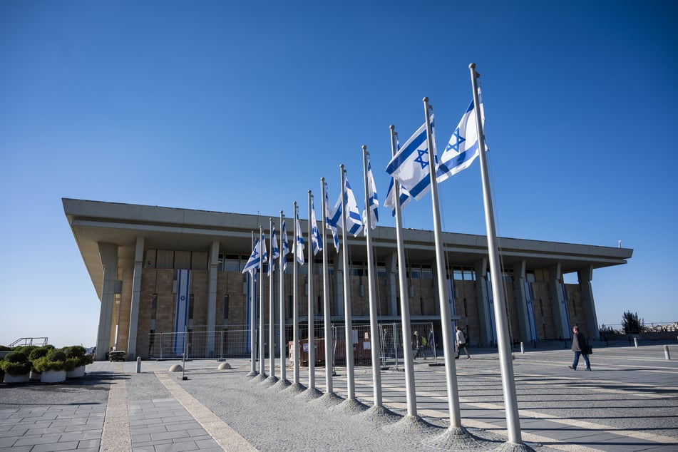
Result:
{"label": "flat overhanging concrete roof of the long building", "polygon": [[[133,267],[137,237],[145,237],[146,249],[208,251],[212,242],[218,240],[222,251],[249,255],[252,252],[252,231],[258,231],[262,225],[264,232],[267,232],[269,218],[274,219],[274,224],[279,220],[279,215],[211,212],[68,198],[63,198],[62,202],[68,224],[71,225],[83,261],[100,296],[103,269],[99,242],[120,247],[119,267]],[[307,220],[300,220],[300,223],[302,230],[307,231]],[[404,241],[410,262],[426,264],[435,261],[433,231],[406,229]],[[372,233],[372,242],[376,260],[386,260],[396,252],[395,228],[377,227]],[[473,266],[488,256],[485,235],[443,232],[443,242],[446,258],[454,266]],[[351,260],[365,261],[364,237],[351,236],[348,243]],[[498,244],[505,268],[523,260],[528,269],[546,268],[560,262],[563,273],[589,266],[597,269],[626,264],[633,254],[633,250],[628,248],[507,237],[498,237]],[[330,250],[332,257],[333,248],[330,247]]]}

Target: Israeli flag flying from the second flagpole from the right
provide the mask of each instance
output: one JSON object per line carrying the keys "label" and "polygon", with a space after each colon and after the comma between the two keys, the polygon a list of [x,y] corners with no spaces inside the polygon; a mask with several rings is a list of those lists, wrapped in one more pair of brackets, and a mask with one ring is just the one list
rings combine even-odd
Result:
{"label": "Israeli flag flying from the second flagpole from the right", "polygon": [[[433,115],[431,115],[431,130],[433,130]],[[436,154],[435,138],[433,155]],[[420,200],[431,190],[431,169],[428,168],[428,142],[426,141],[426,123],[405,142],[402,148],[394,155],[386,173],[396,178],[416,200]]]}

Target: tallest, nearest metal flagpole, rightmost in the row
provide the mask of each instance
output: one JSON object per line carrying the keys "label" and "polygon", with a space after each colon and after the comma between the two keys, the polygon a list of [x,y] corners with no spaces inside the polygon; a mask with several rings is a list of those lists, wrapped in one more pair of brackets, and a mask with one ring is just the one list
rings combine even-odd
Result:
{"label": "tallest, nearest metal flagpole, rightmost in the row", "polygon": [[471,71],[471,86],[473,86],[473,105],[476,110],[476,125],[478,127],[478,148],[481,161],[481,178],[483,180],[483,202],[485,203],[485,224],[488,235],[488,254],[490,257],[490,277],[492,282],[492,296],[494,299],[495,322],[497,325],[497,344],[499,349],[499,364],[501,369],[501,386],[504,394],[506,411],[506,428],[508,441],[521,444],[523,439],[520,433],[520,416],[518,414],[518,399],[515,394],[515,377],[513,375],[513,361],[510,353],[510,339],[508,337],[508,322],[504,306],[504,292],[502,274],[498,259],[499,247],[497,232],[494,223],[492,195],[490,194],[490,176],[488,171],[487,155],[485,150],[485,136],[481,117],[480,99],[478,96],[478,78],[476,63],[468,65]]}

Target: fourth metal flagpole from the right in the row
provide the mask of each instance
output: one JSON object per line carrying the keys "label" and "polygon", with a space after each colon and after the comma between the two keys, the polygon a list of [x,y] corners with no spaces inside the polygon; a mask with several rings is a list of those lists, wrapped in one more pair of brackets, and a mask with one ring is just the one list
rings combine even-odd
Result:
{"label": "fourth metal flagpole from the right in the row", "polygon": [[379,325],[376,317],[376,284],[374,282],[374,250],[372,250],[372,212],[369,203],[371,185],[368,180],[367,160],[369,153],[363,145],[363,175],[365,183],[365,236],[367,242],[367,284],[369,292],[369,330],[370,349],[372,356],[372,386],[374,391],[374,406],[381,407],[381,363],[379,362],[381,346],[379,344]]}

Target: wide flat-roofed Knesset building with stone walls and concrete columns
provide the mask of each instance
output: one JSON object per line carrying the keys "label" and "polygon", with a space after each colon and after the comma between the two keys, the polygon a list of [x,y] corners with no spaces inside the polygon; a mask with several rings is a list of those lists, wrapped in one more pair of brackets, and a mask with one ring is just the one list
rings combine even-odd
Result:
{"label": "wide flat-roofed Knesset building with stone walls and concrete columns", "polygon": [[[250,323],[247,283],[242,274],[252,252],[252,231],[260,225],[269,238],[269,217],[208,212],[172,207],[91,200],[63,200],[63,210],[101,302],[96,359],[105,359],[113,346],[127,351],[128,360],[148,358],[158,333],[175,332],[177,277],[190,270],[188,330],[224,332]],[[300,220],[304,237],[308,223]],[[279,218],[274,217],[279,235]],[[320,227],[320,226],[319,226]],[[292,244],[292,219],[287,218]],[[340,232],[341,233],[341,232]],[[279,236],[278,236],[279,237]],[[396,230],[377,227],[373,234],[379,322],[400,321]],[[306,239],[304,239],[306,240]],[[351,317],[369,323],[366,242],[348,237]],[[543,341],[570,337],[578,324],[587,337],[598,337],[592,289],[593,270],[625,264],[632,250],[500,237],[505,306],[513,341]],[[330,240],[331,241],[331,240]],[[453,314],[471,344],[495,344],[488,273],[487,240],[483,235],[443,233]],[[436,257],[432,231],[404,230],[407,287],[411,322],[430,322],[441,338]],[[308,246],[308,245],[307,245]],[[341,254],[331,243],[332,322],[344,322]],[[291,262],[292,255],[288,255]],[[315,323],[322,324],[322,255],[314,262]],[[292,324],[292,264],[287,265],[282,299],[286,324]],[[307,265],[299,268],[299,318],[307,319]],[[305,273],[304,273],[305,272]],[[578,283],[565,284],[563,274],[576,272]],[[265,274],[264,274],[265,275]],[[278,277],[274,278],[277,284]],[[268,277],[263,279],[268,303]],[[276,295],[279,297],[279,294]],[[279,298],[276,298],[279,299]],[[278,309],[275,309],[278,312]],[[269,322],[264,308],[264,322]],[[278,316],[278,314],[275,314]],[[274,319],[279,324],[279,319]],[[278,334],[276,333],[276,336]],[[291,339],[291,337],[289,338]],[[208,347],[216,344],[208,344]],[[216,354],[217,352],[214,351]]]}

